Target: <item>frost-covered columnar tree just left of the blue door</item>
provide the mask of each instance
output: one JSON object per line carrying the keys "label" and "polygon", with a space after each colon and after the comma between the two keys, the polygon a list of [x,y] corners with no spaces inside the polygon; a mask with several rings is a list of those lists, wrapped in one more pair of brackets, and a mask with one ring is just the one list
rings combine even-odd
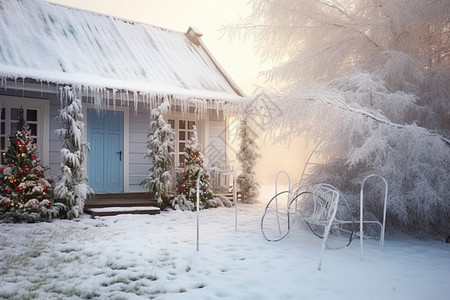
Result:
{"label": "frost-covered columnar tree just left of the blue door", "polygon": [[67,206],[66,217],[72,219],[83,213],[84,204],[92,189],[87,185],[83,167],[89,145],[83,141],[83,113],[81,100],[70,87],[61,96],[62,109],[57,120],[61,125],[56,134],[62,139],[61,174],[55,187],[55,198]]}

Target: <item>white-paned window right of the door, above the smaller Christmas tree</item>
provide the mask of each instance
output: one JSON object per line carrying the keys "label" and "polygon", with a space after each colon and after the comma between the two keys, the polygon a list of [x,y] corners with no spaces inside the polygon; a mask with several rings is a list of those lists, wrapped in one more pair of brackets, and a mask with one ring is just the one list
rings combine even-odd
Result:
{"label": "white-paned window right of the door, above the smaller Christmas tree", "polygon": [[175,130],[175,152],[174,165],[177,168],[184,166],[184,148],[187,141],[194,134],[194,126],[197,125],[195,120],[188,119],[174,119],[170,118],[168,123]]}

